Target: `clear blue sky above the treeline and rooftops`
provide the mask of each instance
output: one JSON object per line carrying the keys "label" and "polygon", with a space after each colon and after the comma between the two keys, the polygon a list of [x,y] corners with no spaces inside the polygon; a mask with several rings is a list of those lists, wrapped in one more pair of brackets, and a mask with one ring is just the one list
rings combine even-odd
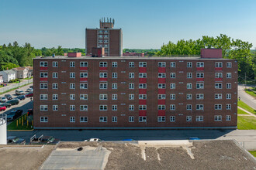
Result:
{"label": "clear blue sky above the treeline and rooftops", "polygon": [[255,0],[1,0],[0,44],[85,48],[102,17],[123,29],[123,48],[160,49],[178,39],[226,34],[256,47]]}

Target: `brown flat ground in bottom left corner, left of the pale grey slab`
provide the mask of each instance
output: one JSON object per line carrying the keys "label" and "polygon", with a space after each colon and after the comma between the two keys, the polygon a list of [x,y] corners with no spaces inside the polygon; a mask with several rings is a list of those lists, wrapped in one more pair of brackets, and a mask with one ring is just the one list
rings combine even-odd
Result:
{"label": "brown flat ground in bottom left corner, left of the pale grey slab", "polygon": [[40,168],[56,145],[40,147],[42,145],[0,145],[0,169]]}

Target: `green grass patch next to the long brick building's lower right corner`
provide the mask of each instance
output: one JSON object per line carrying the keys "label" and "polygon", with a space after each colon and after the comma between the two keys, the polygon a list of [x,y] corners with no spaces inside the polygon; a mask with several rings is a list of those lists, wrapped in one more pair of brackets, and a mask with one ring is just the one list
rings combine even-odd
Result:
{"label": "green grass patch next to the long brick building's lower right corner", "polygon": [[256,130],[256,117],[248,116],[238,116],[237,117],[237,128],[240,130]]}

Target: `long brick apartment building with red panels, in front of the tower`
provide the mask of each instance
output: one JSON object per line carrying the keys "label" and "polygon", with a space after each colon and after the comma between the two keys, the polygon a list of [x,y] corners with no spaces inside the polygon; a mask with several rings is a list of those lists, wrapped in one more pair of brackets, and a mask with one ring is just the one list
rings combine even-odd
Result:
{"label": "long brick apartment building with red panels, in front of the tower", "polygon": [[236,128],[237,61],[206,57],[34,59],[34,128]]}

